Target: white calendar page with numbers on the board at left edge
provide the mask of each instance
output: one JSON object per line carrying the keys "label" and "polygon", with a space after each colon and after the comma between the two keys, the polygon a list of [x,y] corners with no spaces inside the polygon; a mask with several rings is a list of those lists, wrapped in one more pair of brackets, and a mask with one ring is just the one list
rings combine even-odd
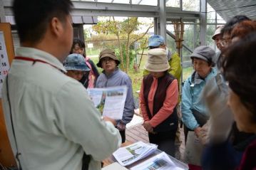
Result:
{"label": "white calendar page with numbers on the board at left edge", "polygon": [[3,87],[4,78],[10,68],[8,55],[6,51],[6,45],[4,41],[4,31],[0,31],[0,98],[1,88]]}

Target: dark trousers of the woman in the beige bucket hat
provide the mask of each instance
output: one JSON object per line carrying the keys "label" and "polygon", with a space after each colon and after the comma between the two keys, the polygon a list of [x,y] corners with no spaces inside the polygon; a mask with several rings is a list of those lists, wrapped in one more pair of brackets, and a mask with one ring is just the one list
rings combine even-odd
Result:
{"label": "dark trousers of the woman in the beige bucket hat", "polygon": [[150,143],[158,145],[158,149],[174,157],[175,134],[176,131],[158,132],[157,134],[148,133],[148,138]]}

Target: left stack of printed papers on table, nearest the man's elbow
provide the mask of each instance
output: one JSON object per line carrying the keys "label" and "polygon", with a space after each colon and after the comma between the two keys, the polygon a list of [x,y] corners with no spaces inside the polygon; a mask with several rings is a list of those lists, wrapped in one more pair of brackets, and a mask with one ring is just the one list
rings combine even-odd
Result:
{"label": "left stack of printed papers on table, nearest the man's elbow", "polygon": [[116,158],[119,164],[127,166],[133,164],[133,162],[145,158],[146,156],[153,154],[158,148],[156,144],[145,144],[143,142],[136,142],[127,147],[121,147],[113,156]]}

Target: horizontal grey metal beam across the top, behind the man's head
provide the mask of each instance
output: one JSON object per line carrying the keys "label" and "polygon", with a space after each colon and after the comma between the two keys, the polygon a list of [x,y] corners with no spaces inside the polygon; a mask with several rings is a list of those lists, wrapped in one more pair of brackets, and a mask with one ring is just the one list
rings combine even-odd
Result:
{"label": "horizontal grey metal beam across the top, behind the man's head", "polygon": [[[11,0],[4,1],[6,16],[13,16]],[[74,9],[72,16],[138,16],[159,17],[159,6],[116,4],[96,1],[72,1]],[[180,8],[166,7],[166,18],[199,18],[199,12],[180,11]]]}

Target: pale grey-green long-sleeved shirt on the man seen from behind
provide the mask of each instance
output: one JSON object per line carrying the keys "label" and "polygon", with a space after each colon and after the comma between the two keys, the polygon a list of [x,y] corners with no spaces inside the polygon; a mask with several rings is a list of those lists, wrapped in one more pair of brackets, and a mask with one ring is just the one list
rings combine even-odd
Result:
{"label": "pale grey-green long-sleeved shirt on the man seen from behind", "polygon": [[[11,114],[22,168],[80,170],[85,150],[92,157],[89,169],[100,169],[99,161],[121,143],[116,128],[101,120],[81,83],[61,73],[64,69],[58,59],[34,48],[19,48],[17,54],[46,61],[14,60],[9,73]],[[3,101],[16,153],[6,82]]]}

